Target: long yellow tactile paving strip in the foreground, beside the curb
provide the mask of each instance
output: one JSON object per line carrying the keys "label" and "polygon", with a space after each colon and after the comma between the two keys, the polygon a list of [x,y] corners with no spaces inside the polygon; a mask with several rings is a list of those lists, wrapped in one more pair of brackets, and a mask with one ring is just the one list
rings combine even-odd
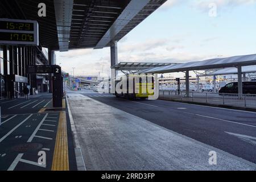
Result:
{"label": "long yellow tactile paving strip in the foreground, beside the curb", "polygon": [[52,160],[52,171],[69,171],[67,119],[65,111],[60,112],[55,150]]}

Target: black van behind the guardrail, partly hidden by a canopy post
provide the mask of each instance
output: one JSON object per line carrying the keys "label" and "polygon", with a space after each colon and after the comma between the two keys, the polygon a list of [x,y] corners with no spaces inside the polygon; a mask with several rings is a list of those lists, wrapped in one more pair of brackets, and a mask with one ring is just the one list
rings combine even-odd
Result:
{"label": "black van behind the guardrail, partly hidden by a canopy post", "polygon": [[[245,81],[242,85],[243,94],[256,94],[256,81]],[[238,93],[238,82],[226,84],[218,93]]]}

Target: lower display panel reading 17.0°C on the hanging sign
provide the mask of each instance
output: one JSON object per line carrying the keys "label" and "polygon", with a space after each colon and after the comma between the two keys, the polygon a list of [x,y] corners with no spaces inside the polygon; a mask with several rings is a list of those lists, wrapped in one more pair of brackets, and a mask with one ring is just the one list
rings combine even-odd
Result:
{"label": "lower display panel reading 17.0\u00b0C on the hanging sign", "polygon": [[0,40],[18,41],[18,42],[34,42],[34,34],[22,34],[11,32],[0,32]]}

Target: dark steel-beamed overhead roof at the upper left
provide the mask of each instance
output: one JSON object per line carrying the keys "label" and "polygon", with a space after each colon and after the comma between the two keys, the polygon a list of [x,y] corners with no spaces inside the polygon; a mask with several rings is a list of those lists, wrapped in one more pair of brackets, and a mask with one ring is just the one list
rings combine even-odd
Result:
{"label": "dark steel-beamed overhead roof at the upper left", "polygon": [[[68,51],[109,47],[167,0],[1,0],[1,18],[37,20],[42,47]],[[38,16],[39,3],[46,17]]]}

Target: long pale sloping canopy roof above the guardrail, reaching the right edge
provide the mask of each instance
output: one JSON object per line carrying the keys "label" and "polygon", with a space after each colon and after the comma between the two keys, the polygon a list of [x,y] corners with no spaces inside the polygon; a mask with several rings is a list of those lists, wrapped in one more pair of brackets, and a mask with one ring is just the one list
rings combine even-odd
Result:
{"label": "long pale sloping canopy roof above the guardrail, reaching the right edge", "polygon": [[184,71],[200,71],[207,69],[218,69],[228,67],[241,67],[247,65],[256,65],[256,54],[232,56],[226,58],[209,59],[203,61],[193,61],[189,63],[168,65],[165,67],[152,68],[142,71],[141,73],[172,73]]}

